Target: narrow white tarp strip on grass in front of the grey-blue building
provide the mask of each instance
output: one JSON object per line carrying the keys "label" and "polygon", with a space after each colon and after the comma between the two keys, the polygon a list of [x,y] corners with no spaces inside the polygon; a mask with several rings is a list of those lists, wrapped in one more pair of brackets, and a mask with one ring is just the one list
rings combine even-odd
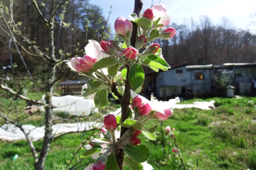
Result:
{"label": "narrow white tarp strip on grass in front of the grey-blue building", "polygon": [[173,107],[171,107],[172,109],[184,109],[184,108],[199,108],[202,110],[210,110],[210,109],[214,109],[214,100],[211,100],[210,102],[194,102],[192,104],[175,104]]}

